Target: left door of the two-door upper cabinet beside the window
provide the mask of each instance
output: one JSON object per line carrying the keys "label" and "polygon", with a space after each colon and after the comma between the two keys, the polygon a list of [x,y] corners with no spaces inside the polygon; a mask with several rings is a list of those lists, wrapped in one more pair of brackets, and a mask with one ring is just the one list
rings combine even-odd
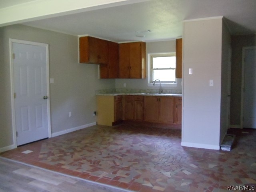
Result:
{"label": "left door of the two-door upper cabinet beside the window", "polygon": [[129,78],[130,43],[119,44],[119,78]]}

